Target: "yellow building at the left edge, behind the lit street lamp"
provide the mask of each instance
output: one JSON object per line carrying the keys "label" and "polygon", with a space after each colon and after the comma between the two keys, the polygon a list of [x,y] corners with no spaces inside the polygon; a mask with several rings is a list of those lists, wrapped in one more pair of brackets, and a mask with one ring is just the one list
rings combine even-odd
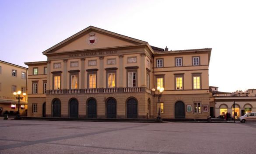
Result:
{"label": "yellow building at the left edge, behind the lit street lamp", "polygon": [[[13,92],[26,93],[28,68],[0,60],[0,115],[16,115],[18,100]],[[20,100],[20,115],[27,114],[27,97]]]}

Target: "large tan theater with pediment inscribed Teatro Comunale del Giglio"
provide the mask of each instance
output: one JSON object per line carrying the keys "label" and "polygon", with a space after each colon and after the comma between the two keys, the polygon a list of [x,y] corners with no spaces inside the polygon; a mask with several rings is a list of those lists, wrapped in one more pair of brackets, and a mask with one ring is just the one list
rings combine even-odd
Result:
{"label": "large tan theater with pediment inscribed Teatro Comunale del Giglio", "polygon": [[[90,26],[28,62],[28,116],[207,119],[211,49],[172,51]],[[37,71],[35,71],[37,70]],[[155,94],[158,92],[155,91]]]}

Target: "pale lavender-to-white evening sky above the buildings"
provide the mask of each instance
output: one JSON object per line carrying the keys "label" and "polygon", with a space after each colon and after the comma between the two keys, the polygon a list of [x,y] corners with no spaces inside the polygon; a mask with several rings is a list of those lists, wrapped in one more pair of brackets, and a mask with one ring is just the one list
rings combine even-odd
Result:
{"label": "pale lavender-to-white evening sky above the buildings", "polygon": [[0,60],[44,61],[92,25],[170,50],[212,48],[209,85],[256,88],[253,0],[0,0]]}

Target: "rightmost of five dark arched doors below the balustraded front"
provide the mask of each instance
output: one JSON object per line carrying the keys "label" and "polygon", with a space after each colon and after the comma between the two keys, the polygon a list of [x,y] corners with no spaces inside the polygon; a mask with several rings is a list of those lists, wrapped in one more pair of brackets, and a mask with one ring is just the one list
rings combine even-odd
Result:
{"label": "rightmost of five dark arched doors below the balustraded front", "polygon": [[138,117],[138,109],[137,109],[137,100],[134,98],[130,98],[127,101],[127,118],[129,119],[137,119]]}

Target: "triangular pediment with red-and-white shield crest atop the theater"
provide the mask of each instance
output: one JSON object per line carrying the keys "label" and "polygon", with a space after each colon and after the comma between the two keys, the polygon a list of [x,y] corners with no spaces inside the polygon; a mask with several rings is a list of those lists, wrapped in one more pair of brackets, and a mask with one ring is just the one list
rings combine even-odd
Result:
{"label": "triangular pediment with red-and-white shield crest atop the theater", "polygon": [[90,26],[57,45],[54,45],[50,49],[47,49],[43,54],[47,55],[51,53],[114,48],[141,44],[147,44],[147,42]]}

